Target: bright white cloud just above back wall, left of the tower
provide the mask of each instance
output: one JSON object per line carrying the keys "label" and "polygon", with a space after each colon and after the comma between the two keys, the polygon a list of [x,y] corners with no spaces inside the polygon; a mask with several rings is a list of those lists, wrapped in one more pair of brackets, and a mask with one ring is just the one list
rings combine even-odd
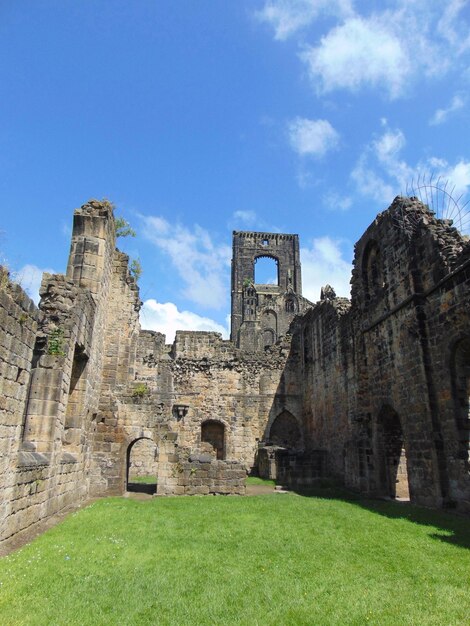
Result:
{"label": "bright white cloud just above back wall, left of the tower", "polygon": [[140,311],[140,322],[146,330],[156,330],[166,335],[166,342],[172,343],[177,330],[208,330],[221,333],[224,339],[229,336],[227,327],[208,317],[201,317],[191,311],[179,311],[172,302],[157,302],[149,299]]}

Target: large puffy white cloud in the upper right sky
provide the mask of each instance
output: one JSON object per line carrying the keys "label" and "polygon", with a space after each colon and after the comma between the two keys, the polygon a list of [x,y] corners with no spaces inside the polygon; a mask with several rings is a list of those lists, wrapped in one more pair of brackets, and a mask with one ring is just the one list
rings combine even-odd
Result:
{"label": "large puffy white cloud in the upper right sky", "polygon": [[322,37],[320,45],[301,54],[320,91],[385,87],[398,96],[410,71],[410,62],[396,36],[375,18],[348,19]]}

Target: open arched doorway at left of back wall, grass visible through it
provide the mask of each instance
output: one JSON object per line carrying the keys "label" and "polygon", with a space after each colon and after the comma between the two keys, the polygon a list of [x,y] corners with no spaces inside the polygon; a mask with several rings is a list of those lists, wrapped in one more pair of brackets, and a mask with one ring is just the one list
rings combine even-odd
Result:
{"label": "open arched doorway at left of back wall, grass visible through it", "polygon": [[127,448],[127,491],[154,494],[158,482],[158,448],[152,439],[135,439]]}

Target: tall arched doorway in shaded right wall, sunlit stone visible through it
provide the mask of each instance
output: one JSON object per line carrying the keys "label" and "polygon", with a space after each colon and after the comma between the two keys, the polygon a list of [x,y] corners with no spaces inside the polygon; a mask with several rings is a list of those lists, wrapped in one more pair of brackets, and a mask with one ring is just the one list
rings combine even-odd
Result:
{"label": "tall arched doorway in shaded right wall, sunlit stone visible through it", "polygon": [[384,406],[377,419],[379,489],[390,498],[409,500],[405,438],[398,413]]}

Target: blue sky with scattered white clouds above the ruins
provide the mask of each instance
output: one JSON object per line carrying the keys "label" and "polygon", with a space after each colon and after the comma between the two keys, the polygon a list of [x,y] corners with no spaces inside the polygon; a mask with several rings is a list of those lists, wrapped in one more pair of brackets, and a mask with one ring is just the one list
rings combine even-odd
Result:
{"label": "blue sky with scattered white clouds above the ruins", "polygon": [[418,177],[470,192],[470,0],[0,1],[0,256],[31,293],[73,209],[137,231],[142,324],[224,331],[231,232],[301,238],[304,294]]}

